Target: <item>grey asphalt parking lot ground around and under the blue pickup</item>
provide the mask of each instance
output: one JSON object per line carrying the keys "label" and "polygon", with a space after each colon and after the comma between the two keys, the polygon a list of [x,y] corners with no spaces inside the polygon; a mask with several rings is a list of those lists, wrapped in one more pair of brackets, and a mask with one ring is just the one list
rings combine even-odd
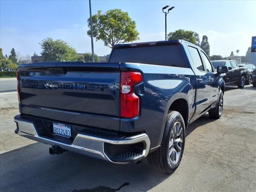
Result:
{"label": "grey asphalt parking lot ground around and under the blue pickup", "polygon": [[[2,96],[1,96],[2,97]],[[14,134],[16,108],[1,109],[1,192],[244,191],[256,189],[256,88],[226,88],[219,120],[205,114],[190,124],[184,155],[172,175],[146,159],[116,165],[66,152]]]}

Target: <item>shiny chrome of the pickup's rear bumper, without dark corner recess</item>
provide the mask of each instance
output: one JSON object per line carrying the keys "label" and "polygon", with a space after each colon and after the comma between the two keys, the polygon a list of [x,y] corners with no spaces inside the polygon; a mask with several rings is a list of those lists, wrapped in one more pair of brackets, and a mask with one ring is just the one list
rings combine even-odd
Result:
{"label": "shiny chrome of the pickup's rear bumper, without dark corner recess", "polygon": [[[106,138],[100,138],[98,136],[97,137],[89,136],[89,135],[78,132],[72,144],[65,144],[62,142],[57,142],[57,141],[40,136],[32,121],[28,121],[28,120],[25,121],[25,120],[21,120],[14,117],[14,122],[16,122],[17,124],[17,129],[15,130],[15,132],[20,136],[24,136],[26,138],[29,138],[31,140],[35,140],[38,142],[42,142],[44,144],[59,146],[62,149],[65,149],[68,151],[77,152],[80,154],[84,154],[94,158],[99,158],[102,160],[107,160],[113,163],[127,163],[127,162],[111,160],[109,155],[104,151],[104,144],[120,146],[120,145],[137,144],[142,142],[144,149],[142,149],[142,152],[140,155],[138,154],[134,155],[131,162],[146,157],[150,150],[150,139],[148,135],[145,133],[111,140]],[[118,158],[121,158],[122,156],[124,156],[124,154],[119,155]],[[125,156],[127,155],[125,154]],[[130,156],[130,154],[128,154],[128,156]]]}

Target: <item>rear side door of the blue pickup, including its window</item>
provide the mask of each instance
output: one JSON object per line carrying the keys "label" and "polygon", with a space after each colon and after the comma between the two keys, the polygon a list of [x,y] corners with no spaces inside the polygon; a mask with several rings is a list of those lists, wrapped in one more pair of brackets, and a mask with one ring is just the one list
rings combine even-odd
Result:
{"label": "rear side door of the blue pickup, including its window", "polygon": [[210,106],[210,78],[205,71],[199,50],[194,46],[188,46],[194,72],[196,74],[196,118]]}

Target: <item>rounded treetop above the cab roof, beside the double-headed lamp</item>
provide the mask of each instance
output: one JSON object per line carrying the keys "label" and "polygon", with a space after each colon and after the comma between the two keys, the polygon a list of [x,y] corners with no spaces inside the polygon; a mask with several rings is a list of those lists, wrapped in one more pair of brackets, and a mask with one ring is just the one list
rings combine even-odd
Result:
{"label": "rounded treetop above the cab roof, beside the double-headed lamp", "polygon": [[167,39],[168,40],[181,39],[181,40],[186,40],[186,41],[196,44],[196,45],[200,44],[200,39],[199,39],[198,33],[193,32],[193,31],[187,31],[184,29],[178,29],[174,32],[168,33]]}

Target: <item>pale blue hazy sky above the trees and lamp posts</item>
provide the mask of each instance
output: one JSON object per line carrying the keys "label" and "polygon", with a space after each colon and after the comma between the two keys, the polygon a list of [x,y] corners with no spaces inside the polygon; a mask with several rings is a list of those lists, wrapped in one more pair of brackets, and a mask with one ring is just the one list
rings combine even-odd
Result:
{"label": "pale blue hazy sky above the trees and lamp posts", "polygon": [[[229,56],[240,50],[245,55],[256,36],[256,1],[154,1],[92,0],[92,14],[98,10],[122,9],[136,22],[140,40],[164,40],[162,7],[175,8],[167,15],[167,33],[178,29],[208,36],[210,54]],[[91,52],[87,35],[90,17],[88,0],[0,0],[0,47],[10,54],[14,48],[20,57],[40,55],[39,43],[51,37],[62,39],[78,53]],[[94,52],[104,56],[111,49],[94,39]]]}

